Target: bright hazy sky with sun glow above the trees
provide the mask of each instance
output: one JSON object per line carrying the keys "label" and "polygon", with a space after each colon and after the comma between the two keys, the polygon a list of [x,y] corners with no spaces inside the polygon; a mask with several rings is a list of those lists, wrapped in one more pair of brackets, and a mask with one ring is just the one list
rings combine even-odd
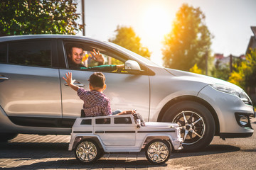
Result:
{"label": "bright hazy sky with sun glow above the trees", "polygon": [[162,65],[164,35],[171,32],[182,4],[199,7],[205,14],[214,35],[212,55],[245,54],[253,35],[250,26],[256,26],[256,0],[85,0],[85,35],[106,41],[114,38],[117,26],[131,26],[149,48],[151,60]]}

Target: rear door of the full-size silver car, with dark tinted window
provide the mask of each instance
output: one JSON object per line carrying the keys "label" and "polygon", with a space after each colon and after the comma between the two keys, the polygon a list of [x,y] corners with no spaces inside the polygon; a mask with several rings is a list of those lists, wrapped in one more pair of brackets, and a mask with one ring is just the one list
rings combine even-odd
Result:
{"label": "rear door of the full-size silver car, with dark tinted window", "polygon": [[59,72],[53,68],[53,40],[4,45],[8,52],[5,62],[0,63],[1,107],[17,125],[55,127],[62,115]]}

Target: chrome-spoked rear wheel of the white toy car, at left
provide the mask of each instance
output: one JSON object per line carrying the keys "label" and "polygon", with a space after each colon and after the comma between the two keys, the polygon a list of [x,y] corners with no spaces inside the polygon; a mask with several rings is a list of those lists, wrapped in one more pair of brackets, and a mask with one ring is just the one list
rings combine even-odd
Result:
{"label": "chrome-spoked rear wheel of the white toy car, at left", "polygon": [[82,140],[75,147],[75,157],[83,164],[91,164],[100,157],[100,148],[93,140]]}

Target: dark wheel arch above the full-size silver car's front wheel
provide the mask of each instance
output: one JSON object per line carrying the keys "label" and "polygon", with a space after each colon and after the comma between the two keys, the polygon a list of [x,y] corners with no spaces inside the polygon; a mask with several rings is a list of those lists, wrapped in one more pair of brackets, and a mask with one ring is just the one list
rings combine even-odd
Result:
{"label": "dark wheel arch above the full-size silver car's front wheel", "polygon": [[180,101],[196,101],[198,103],[201,103],[203,106],[206,106],[206,108],[208,108],[210,113],[213,115],[213,119],[214,119],[214,123],[215,123],[215,135],[220,135],[220,123],[218,120],[217,113],[215,112],[214,108],[212,106],[210,106],[210,104],[207,101],[203,100],[202,98],[198,98],[197,96],[179,96],[179,97],[173,98],[171,101],[166,103],[164,105],[164,107],[161,109],[159,116],[157,118],[157,121],[160,122],[164,116],[164,113],[167,111],[167,109],[169,107],[171,107],[172,105],[174,105],[175,103],[178,103]]}

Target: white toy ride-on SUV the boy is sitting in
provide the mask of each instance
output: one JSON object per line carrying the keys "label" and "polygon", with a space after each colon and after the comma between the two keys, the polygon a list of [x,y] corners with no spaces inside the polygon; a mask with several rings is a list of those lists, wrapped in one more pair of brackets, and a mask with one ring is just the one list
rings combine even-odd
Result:
{"label": "white toy ride-on SUV the boy is sitting in", "polygon": [[139,114],[77,118],[68,150],[90,164],[105,152],[140,152],[142,148],[151,164],[164,164],[172,150],[182,149],[178,125],[145,123]]}

